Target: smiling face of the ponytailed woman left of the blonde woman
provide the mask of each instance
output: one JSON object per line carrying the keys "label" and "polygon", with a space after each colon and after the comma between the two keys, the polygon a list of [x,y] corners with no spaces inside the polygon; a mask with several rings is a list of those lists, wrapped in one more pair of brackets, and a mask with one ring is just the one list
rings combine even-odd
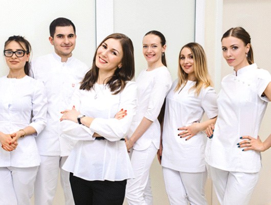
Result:
{"label": "smiling face of the ponytailed woman left of the blonde woman", "polygon": [[154,34],[145,35],[143,38],[143,55],[149,67],[162,66],[162,53],[165,52],[166,45],[161,45],[161,39]]}

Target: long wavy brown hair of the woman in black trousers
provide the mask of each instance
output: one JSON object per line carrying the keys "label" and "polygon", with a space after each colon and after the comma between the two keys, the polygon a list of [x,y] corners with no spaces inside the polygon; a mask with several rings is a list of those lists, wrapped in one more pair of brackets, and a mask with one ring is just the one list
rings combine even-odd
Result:
{"label": "long wavy brown hair of the woman in black trousers", "polygon": [[123,57],[121,60],[122,67],[117,68],[114,74],[109,77],[106,86],[110,88],[113,94],[120,93],[126,86],[127,80],[132,80],[134,76],[134,57],[133,45],[131,39],[122,33],[113,33],[103,39],[102,43],[97,47],[93,57],[92,69],[89,70],[81,82],[81,90],[94,89],[99,75],[99,68],[96,66],[96,55],[98,48],[109,38],[114,38],[120,41],[123,50]]}

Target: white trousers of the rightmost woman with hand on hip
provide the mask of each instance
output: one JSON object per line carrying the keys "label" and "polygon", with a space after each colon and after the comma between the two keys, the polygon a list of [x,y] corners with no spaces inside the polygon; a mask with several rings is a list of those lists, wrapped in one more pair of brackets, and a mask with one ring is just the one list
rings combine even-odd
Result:
{"label": "white trousers of the rightmost woman with hand on hip", "polygon": [[259,178],[257,173],[228,172],[207,166],[221,205],[247,205]]}

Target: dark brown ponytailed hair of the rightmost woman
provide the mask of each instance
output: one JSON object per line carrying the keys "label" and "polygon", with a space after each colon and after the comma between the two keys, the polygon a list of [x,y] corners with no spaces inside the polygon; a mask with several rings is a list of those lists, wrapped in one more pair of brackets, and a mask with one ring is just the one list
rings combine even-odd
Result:
{"label": "dark brown ponytailed hair of the rightmost woman", "polygon": [[235,28],[231,28],[228,31],[226,31],[222,38],[225,37],[229,37],[229,36],[233,36],[236,38],[239,38],[240,40],[242,40],[242,42],[244,43],[244,45],[246,46],[247,44],[250,44],[250,50],[247,53],[247,61],[249,62],[249,64],[254,64],[254,57],[253,57],[253,50],[252,50],[252,45],[251,45],[251,36],[249,33],[247,33],[246,30],[244,30],[242,27],[235,27]]}

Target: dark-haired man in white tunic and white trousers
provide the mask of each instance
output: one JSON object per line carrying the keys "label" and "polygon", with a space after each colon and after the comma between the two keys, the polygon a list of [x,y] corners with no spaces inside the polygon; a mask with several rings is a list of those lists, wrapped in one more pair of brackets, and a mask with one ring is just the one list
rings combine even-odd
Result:
{"label": "dark-haired man in white tunic and white trousers", "polygon": [[[72,56],[75,48],[76,30],[71,20],[57,18],[50,25],[49,41],[54,52],[33,60],[30,75],[43,81],[48,97],[47,127],[37,138],[41,163],[35,182],[35,204],[53,203],[59,168],[62,167],[73,141],[61,139],[59,119],[71,96],[85,75],[88,67]],[[65,204],[74,204],[69,173],[60,169]]]}

